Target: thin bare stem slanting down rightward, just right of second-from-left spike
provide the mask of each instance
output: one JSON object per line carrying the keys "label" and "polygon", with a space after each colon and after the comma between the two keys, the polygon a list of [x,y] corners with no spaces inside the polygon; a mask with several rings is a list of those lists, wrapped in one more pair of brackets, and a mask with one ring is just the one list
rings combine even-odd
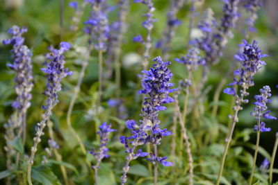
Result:
{"label": "thin bare stem slanting down rightward, just right of second-from-left spike", "polygon": [[[54,132],[53,132],[53,123],[50,120],[47,121],[47,127],[48,127],[48,131],[49,131],[49,138],[52,141],[55,141],[54,140]],[[53,150],[54,150],[54,155],[56,157],[56,160],[59,161],[59,162],[62,162],[62,156],[59,154],[58,150],[56,148],[53,148]],[[65,166],[60,165],[60,170],[61,170],[61,173],[63,175],[63,179],[65,181],[65,184],[68,185],[69,180],[67,178],[67,170],[65,169]]]}

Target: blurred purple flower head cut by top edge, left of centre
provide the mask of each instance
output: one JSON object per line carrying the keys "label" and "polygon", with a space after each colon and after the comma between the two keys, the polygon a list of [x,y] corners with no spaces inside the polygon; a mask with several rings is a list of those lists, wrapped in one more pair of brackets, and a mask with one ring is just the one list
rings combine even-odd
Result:
{"label": "blurred purple flower head cut by top edge, left of centre", "polygon": [[109,36],[108,19],[106,15],[106,7],[104,0],[87,0],[92,6],[90,17],[84,22],[87,27],[84,32],[90,35],[90,43],[95,44],[95,49],[98,51],[106,51]]}

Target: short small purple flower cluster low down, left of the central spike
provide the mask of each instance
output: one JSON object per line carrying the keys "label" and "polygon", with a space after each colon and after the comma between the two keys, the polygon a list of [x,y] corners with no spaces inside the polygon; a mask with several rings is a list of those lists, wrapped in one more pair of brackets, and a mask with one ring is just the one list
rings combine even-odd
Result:
{"label": "short small purple flower cluster low down, left of the central spike", "polygon": [[107,152],[109,151],[107,146],[107,142],[109,141],[108,135],[110,132],[115,132],[115,129],[111,129],[111,124],[107,125],[105,122],[99,125],[99,131],[97,134],[100,136],[100,146],[99,151],[96,152],[95,149],[90,150],[90,154],[93,155],[97,159],[97,164],[95,166],[92,166],[92,168],[99,168],[99,164],[101,163],[101,160],[105,158],[108,158],[109,155]]}

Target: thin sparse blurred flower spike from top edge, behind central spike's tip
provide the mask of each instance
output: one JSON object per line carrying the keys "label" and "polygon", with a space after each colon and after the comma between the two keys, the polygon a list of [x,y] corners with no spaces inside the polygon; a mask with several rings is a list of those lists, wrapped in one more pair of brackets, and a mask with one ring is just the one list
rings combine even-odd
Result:
{"label": "thin sparse blurred flower spike from top edge, behind central spike's tip", "polygon": [[[145,42],[143,39],[140,39],[140,41],[138,41],[138,39],[136,39],[136,42],[141,42],[142,44],[145,45],[145,53],[144,53],[145,60],[142,62],[142,65],[143,65],[143,69],[147,70],[147,65],[149,63],[147,59],[149,58],[149,50],[152,47],[152,37],[151,37],[152,28],[154,27],[154,24],[153,24],[154,21],[156,21],[156,19],[153,18],[154,17],[153,12],[154,12],[154,10],[156,10],[156,8],[154,8],[154,3],[152,2],[152,0],[134,0],[133,2],[134,3],[143,3],[148,8],[148,12],[143,14],[144,17],[147,17],[147,20],[142,22],[142,26],[147,29],[147,38],[146,38]],[[136,37],[139,38],[140,36],[138,35]],[[142,36],[141,36],[141,38],[142,38]]]}

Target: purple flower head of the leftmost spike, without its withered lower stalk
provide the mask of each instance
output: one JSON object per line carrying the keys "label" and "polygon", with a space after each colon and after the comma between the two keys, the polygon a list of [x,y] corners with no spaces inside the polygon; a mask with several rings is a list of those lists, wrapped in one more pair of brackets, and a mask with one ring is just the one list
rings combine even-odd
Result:
{"label": "purple flower head of the leftmost spike, without its withered lower stalk", "polygon": [[32,97],[31,90],[33,88],[32,53],[28,47],[24,45],[24,38],[22,37],[22,34],[26,31],[26,28],[13,26],[8,30],[8,33],[13,35],[13,37],[3,41],[3,44],[13,45],[13,49],[10,52],[13,53],[12,58],[15,61],[13,64],[8,64],[8,67],[16,72],[15,92],[17,98],[13,102],[12,107],[21,115],[18,117],[19,125],[22,125],[24,119],[23,114],[25,114],[28,107],[30,107],[30,100]]}

